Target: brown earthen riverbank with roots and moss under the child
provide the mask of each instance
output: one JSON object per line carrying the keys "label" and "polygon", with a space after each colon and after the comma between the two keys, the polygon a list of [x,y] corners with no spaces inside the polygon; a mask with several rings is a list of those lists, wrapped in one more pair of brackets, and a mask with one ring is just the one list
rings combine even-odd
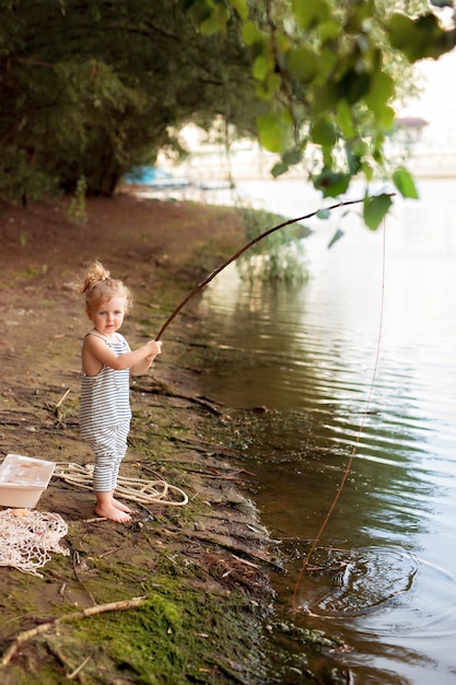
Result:
{"label": "brown earthen riverbank with roots and moss under the child", "polygon": [[[100,258],[131,288],[122,332],[135,347],[243,241],[221,208],[118,196],[90,200],[85,214],[70,220],[62,204],[0,213],[2,458],[92,462],[78,434],[84,262]],[[194,395],[198,316],[189,304],[152,372],[132,382],[121,471],[164,480],[188,503],[130,501],[133,519],[119,525],[94,515],[90,491],[52,477],[36,510],[68,524],[68,555],[51,554],[42,577],[0,569],[5,685],[261,682],[273,549],[229,411]]]}

